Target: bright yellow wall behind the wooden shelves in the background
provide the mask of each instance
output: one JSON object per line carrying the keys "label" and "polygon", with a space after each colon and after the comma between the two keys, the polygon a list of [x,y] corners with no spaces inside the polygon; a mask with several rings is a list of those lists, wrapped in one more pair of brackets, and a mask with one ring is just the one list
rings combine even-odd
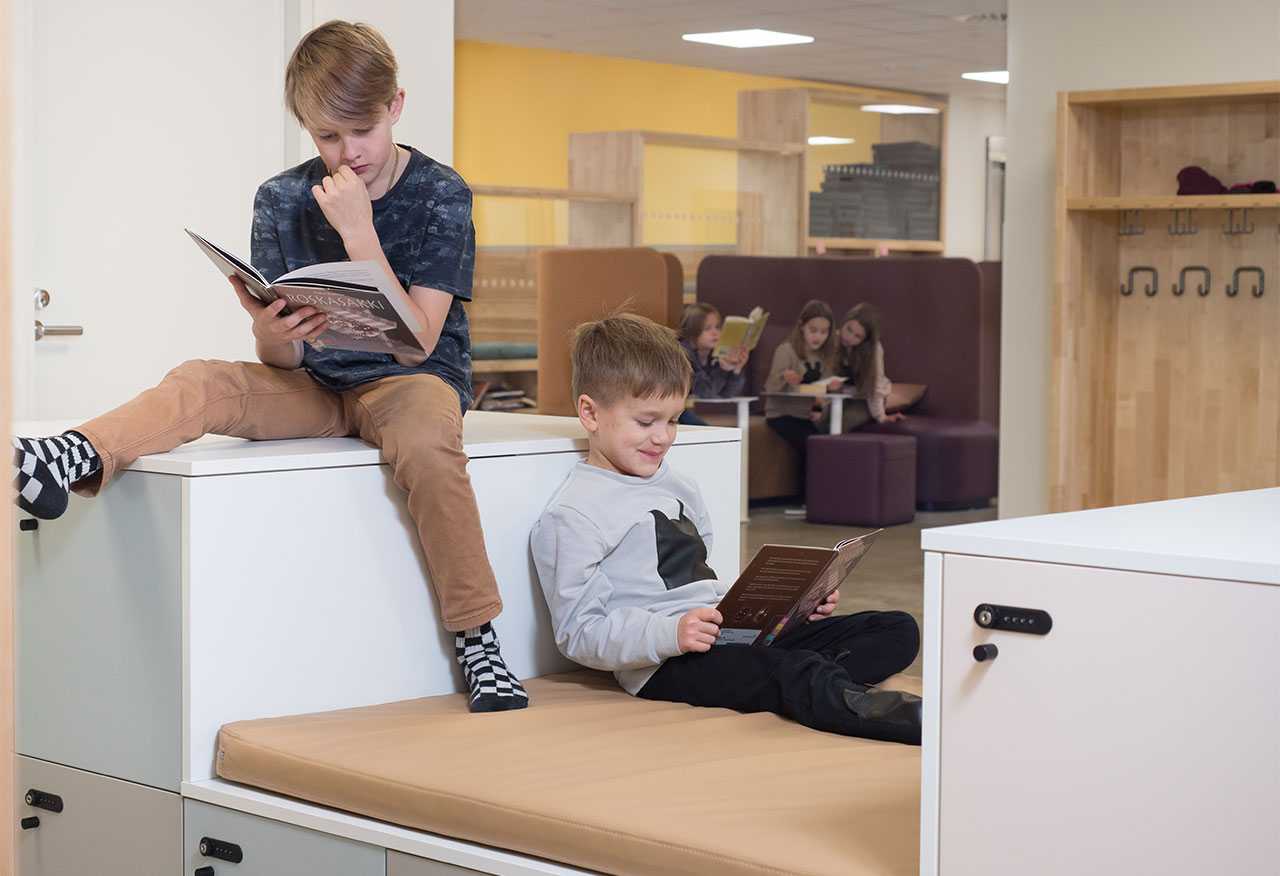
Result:
{"label": "bright yellow wall behind the wooden shelves in the background", "polygon": [[[737,92],[838,86],[603,55],[461,40],[454,47],[453,160],[474,184],[568,186],[568,136],[671,131],[737,136]],[[809,187],[822,164],[869,161],[879,117],[812,105],[812,133],[854,137],[810,149]],[[829,129],[828,129],[829,128]],[[732,152],[649,147],[645,243],[733,243],[737,165]],[[815,160],[813,160],[815,159]],[[527,209],[526,209],[527,207]],[[481,246],[567,242],[563,205],[477,199]]]}

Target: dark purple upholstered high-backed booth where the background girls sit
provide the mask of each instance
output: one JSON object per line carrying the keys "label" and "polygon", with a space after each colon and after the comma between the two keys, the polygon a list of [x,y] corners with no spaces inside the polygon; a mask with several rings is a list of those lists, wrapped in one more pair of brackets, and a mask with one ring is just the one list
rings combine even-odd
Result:
{"label": "dark purple upholstered high-backed booth where the background girls sit", "polygon": [[[968,259],[708,256],[698,270],[698,300],[726,315],[756,305],[769,311],[748,366],[749,392],[763,388],[773,348],[809,298],[826,300],[837,320],[859,301],[878,306],[890,379],[923,383],[928,392],[905,421],[864,429],[915,437],[916,505],[960,508],[996,496],[998,277],[998,265]],[[794,494],[790,450],[765,432],[751,432],[750,494]]]}

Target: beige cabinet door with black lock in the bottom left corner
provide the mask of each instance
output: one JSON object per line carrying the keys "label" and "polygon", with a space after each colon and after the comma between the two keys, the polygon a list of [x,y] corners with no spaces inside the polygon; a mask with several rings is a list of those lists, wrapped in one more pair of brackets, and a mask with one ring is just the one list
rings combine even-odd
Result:
{"label": "beige cabinet door with black lock in the bottom left corner", "polygon": [[[17,758],[18,876],[173,876],[182,867],[182,800],[177,794],[96,776],[27,757]],[[54,808],[28,806],[35,790]]]}

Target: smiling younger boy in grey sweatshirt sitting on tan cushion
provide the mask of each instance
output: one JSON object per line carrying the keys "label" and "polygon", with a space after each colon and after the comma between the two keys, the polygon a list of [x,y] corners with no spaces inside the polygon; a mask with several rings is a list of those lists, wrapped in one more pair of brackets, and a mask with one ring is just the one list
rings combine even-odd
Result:
{"label": "smiling younger boy in grey sweatshirt sitting on tan cushion", "polygon": [[692,377],[675,334],[634,315],[586,323],[572,365],[588,456],[530,537],[561,653],[645,699],[919,744],[920,698],[872,686],[915,658],[906,612],[832,616],[833,593],[768,647],[716,644],[732,581],[707,564],[698,483],[666,461]]}

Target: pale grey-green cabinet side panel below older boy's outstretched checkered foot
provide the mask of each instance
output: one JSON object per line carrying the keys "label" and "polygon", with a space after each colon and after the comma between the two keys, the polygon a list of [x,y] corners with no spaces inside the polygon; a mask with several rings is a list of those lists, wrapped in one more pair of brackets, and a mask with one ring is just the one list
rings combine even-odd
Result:
{"label": "pale grey-green cabinet side panel below older boy's outstretched checkered foot", "polygon": [[18,752],[177,791],[182,478],[124,473],[17,544]]}

